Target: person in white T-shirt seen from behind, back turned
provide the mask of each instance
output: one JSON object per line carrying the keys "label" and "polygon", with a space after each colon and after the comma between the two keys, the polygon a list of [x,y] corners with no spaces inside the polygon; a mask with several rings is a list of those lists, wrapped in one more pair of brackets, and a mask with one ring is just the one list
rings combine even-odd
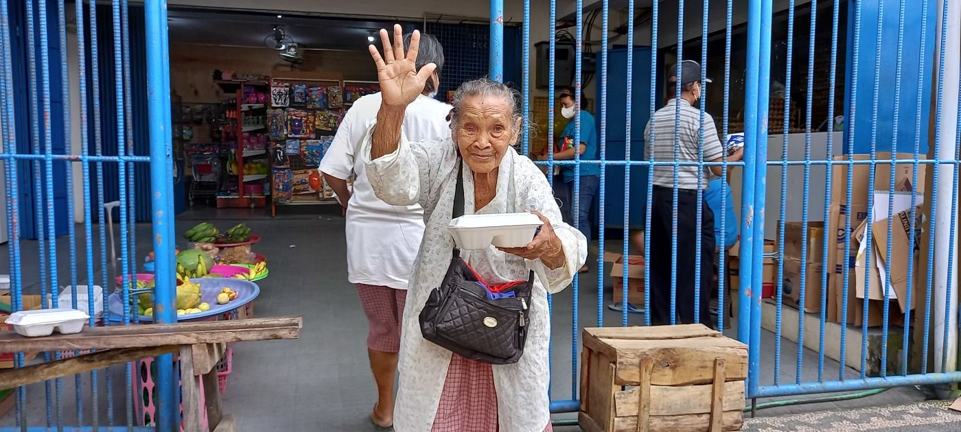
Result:
{"label": "person in white T-shirt seen from behind, back turned", "polygon": [[[410,35],[404,37],[406,47]],[[451,106],[433,99],[440,84],[443,48],[433,36],[420,38],[418,70],[437,64],[423,93],[407,109],[403,130],[414,140],[447,139],[451,136],[447,116]],[[417,204],[391,205],[379,200],[367,180],[357,151],[368,123],[377,118],[381,93],[364,96],[347,111],[330,150],[320,163],[324,179],[346,209],[347,268],[357,292],[369,331],[367,352],[377,382],[378,402],[370,415],[375,426],[390,428],[394,412],[394,375],[401,343],[401,322],[407,299],[407,277],[424,235],[424,209]],[[353,191],[347,179],[354,175]]]}

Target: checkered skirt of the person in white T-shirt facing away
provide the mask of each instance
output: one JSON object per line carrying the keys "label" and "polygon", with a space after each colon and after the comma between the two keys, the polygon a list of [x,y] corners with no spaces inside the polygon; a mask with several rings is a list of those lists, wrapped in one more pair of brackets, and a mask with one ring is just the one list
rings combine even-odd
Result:
{"label": "checkered skirt of the person in white T-shirt facing away", "polygon": [[382,352],[401,350],[401,322],[407,290],[357,284],[363,313],[367,315],[367,348]]}

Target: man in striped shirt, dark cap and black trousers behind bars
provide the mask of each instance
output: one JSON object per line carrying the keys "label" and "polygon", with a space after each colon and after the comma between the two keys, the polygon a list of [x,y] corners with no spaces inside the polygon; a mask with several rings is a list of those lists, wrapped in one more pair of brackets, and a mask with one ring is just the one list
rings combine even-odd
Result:
{"label": "man in striped shirt, dark cap and black trousers behind bars", "polygon": [[[668,78],[668,94],[677,94],[680,85],[680,98],[671,99],[664,108],[654,112],[645,136],[648,140],[648,156],[657,162],[697,162],[698,160],[720,162],[725,152],[718,139],[714,119],[695,104],[702,96],[701,64],[694,60],[681,61],[680,79],[677,67],[671,67]],[[710,83],[710,79],[704,79]],[[703,132],[703,134],[702,134]],[[701,138],[703,136],[703,139]],[[741,160],[743,150],[727,157],[728,161]],[[709,167],[715,175],[721,175],[720,166]],[[654,325],[671,324],[672,290],[672,235],[675,218],[678,221],[677,246],[677,297],[676,323],[702,323],[713,326],[708,311],[712,288],[715,239],[714,213],[710,206],[699,196],[699,187],[707,187],[706,170],[697,166],[653,167],[653,196],[651,197],[651,251],[647,253],[647,263],[651,269],[651,323]],[[677,173],[677,180],[675,180]],[[700,184],[699,184],[700,183]],[[678,207],[674,206],[674,193],[678,192]],[[701,194],[702,195],[702,194]],[[698,202],[701,201],[701,220],[698,220]],[[696,245],[698,225],[701,225],[701,299],[699,316],[694,315],[695,271],[697,266]]]}

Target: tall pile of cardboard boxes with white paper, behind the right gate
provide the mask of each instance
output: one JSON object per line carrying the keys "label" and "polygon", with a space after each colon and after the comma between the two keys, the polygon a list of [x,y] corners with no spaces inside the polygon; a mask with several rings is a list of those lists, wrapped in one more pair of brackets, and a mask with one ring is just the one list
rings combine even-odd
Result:
{"label": "tall pile of cardboard boxes with white paper, behind the right gate", "polygon": [[[913,156],[910,154],[898,154],[899,159],[910,159]],[[878,161],[890,160],[891,154],[878,153],[875,157]],[[835,160],[847,160],[848,156],[837,156]],[[869,160],[868,155],[856,155],[854,160]],[[924,173],[925,165],[921,164],[918,167],[918,181],[917,184],[912,184],[913,178],[913,163],[899,163],[894,169],[892,169],[890,163],[877,163],[875,168],[875,183],[873,188],[869,188],[871,179],[871,167],[870,164],[854,164],[852,165],[851,177],[852,181],[850,183],[850,205],[848,203],[848,176],[849,176],[849,166],[848,165],[835,165],[832,170],[832,188],[831,188],[831,200],[830,200],[830,221],[827,232],[832,232],[834,238],[834,248],[833,251],[828,251],[828,262],[827,266],[829,269],[834,269],[829,281],[828,296],[827,301],[828,319],[836,323],[848,323],[861,325],[863,324],[864,318],[864,288],[865,288],[865,278],[864,276],[871,275],[870,283],[871,286],[875,287],[881,296],[875,296],[877,299],[871,300],[871,290],[869,289],[869,302],[868,302],[868,325],[875,326],[880,325],[882,321],[882,311],[883,311],[883,291],[881,291],[880,285],[880,271],[881,268],[878,267],[880,264],[884,266],[884,259],[886,259],[887,253],[879,252],[876,248],[877,245],[883,244],[884,248],[887,247],[887,219],[889,216],[888,208],[888,198],[890,196],[890,180],[891,176],[895,176],[895,195],[896,201],[896,211],[893,215],[895,221],[907,221],[908,216],[901,217],[898,209],[898,205],[902,205],[907,200],[910,203],[910,191],[917,191],[916,205],[921,205],[924,203]],[[872,190],[873,189],[873,190]],[[863,251],[867,250],[868,244],[862,243],[864,241],[864,234],[866,233],[866,224],[868,224],[868,201],[869,194],[874,195],[874,205],[872,209],[872,237],[873,245],[875,248],[872,251],[872,255],[875,257],[884,256],[880,260],[872,259],[874,262],[866,262],[866,253]],[[910,207],[910,204],[907,204]],[[902,208],[901,210],[906,210],[905,214],[910,214],[909,208]],[[920,214],[920,207],[919,207]],[[850,222],[850,225],[847,223]],[[904,225],[902,228],[901,225]],[[906,224],[900,224],[900,222],[893,224],[894,234],[897,234],[892,248],[892,266],[894,272],[892,274],[892,289],[897,294],[903,292],[903,296],[890,296],[891,299],[903,297],[906,300],[906,257],[909,253],[909,247],[907,246],[907,240],[901,240],[906,238],[909,234],[908,229],[911,224],[908,222]],[[915,225],[917,227],[917,225]],[[850,228],[850,230],[848,230]],[[880,228],[880,229],[878,229]],[[916,239],[917,240],[917,239]],[[847,247],[846,247],[847,245]],[[858,275],[858,255],[861,251],[861,271],[860,276]],[[902,261],[898,261],[898,259]],[[919,263],[917,263],[917,253],[915,253],[915,266],[914,273],[917,274],[917,268]],[[847,309],[844,309],[843,299],[845,295],[845,263],[847,261],[847,271],[848,271],[848,304]],[[870,273],[869,273],[870,272]],[[886,279],[886,278],[885,278]],[[861,296],[859,298],[858,292],[861,291]],[[831,301],[833,299],[833,301]],[[880,300],[878,300],[880,299]],[[895,308],[892,308],[890,312],[892,315],[889,320],[892,323],[897,323],[899,321],[899,312],[903,312],[907,305],[904,304],[903,307],[899,307],[899,304],[895,304]],[[913,306],[913,305],[912,305]]]}

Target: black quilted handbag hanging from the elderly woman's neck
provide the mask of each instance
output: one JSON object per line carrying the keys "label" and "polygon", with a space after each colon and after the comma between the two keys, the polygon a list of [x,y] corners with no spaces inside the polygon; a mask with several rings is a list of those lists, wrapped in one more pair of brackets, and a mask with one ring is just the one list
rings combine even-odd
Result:
{"label": "black quilted handbag hanging from the elderly woman's neck", "polygon": [[[457,170],[452,218],[463,215],[463,200]],[[431,291],[421,310],[421,334],[424,339],[471,360],[492,365],[517,363],[528,339],[533,272],[528,280],[513,283],[495,299],[487,296],[485,286],[455,249],[447,275]]]}

